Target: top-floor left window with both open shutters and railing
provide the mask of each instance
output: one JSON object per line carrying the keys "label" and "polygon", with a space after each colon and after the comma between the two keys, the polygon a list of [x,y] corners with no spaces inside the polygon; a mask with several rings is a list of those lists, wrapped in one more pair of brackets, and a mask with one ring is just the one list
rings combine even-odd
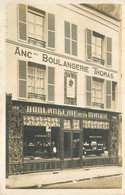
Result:
{"label": "top-floor left window with both open shutters and railing", "polygon": [[[19,5],[19,40],[39,47],[55,48],[55,16],[32,6]],[[47,32],[47,34],[46,34]]]}

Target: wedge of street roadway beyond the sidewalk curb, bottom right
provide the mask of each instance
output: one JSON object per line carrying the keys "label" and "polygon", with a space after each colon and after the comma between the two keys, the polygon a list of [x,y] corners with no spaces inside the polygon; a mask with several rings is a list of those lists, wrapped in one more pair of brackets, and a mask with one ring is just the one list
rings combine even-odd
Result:
{"label": "wedge of street roadway beyond the sidewalk curb, bottom right", "polygon": [[56,184],[42,187],[44,189],[120,189],[122,188],[122,176],[95,178],[91,180]]}

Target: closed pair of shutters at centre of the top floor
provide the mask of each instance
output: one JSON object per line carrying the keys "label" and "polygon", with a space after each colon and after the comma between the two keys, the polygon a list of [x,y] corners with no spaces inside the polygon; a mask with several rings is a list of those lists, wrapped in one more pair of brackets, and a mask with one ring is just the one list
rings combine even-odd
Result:
{"label": "closed pair of shutters at centre of the top floor", "polygon": [[65,21],[65,53],[77,56],[77,26]]}

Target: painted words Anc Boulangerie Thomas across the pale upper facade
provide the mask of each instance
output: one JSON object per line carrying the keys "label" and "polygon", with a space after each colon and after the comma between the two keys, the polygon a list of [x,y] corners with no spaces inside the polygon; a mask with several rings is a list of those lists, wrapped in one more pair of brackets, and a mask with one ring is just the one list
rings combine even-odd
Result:
{"label": "painted words Anc Boulangerie Thomas across the pale upper facade", "polygon": [[[18,56],[29,58],[29,59],[32,59],[33,55],[36,55],[31,51],[20,49],[20,47],[16,47],[14,54],[18,55]],[[69,60],[64,60],[63,58],[59,58],[56,56],[52,57],[52,56],[45,54],[45,53],[42,53],[41,63],[49,63],[49,64],[69,68],[71,70],[83,71],[86,73],[90,72],[90,67],[88,67],[88,66],[81,65],[81,64],[69,61]],[[110,79],[113,79],[113,77],[114,77],[113,73],[110,73],[109,71],[101,70],[101,69],[96,68],[96,67],[92,67],[92,72],[96,76],[106,77],[106,78],[110,78]]]}

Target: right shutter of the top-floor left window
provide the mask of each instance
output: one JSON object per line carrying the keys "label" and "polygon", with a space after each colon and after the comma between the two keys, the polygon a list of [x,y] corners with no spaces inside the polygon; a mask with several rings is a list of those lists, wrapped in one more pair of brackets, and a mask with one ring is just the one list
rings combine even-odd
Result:
{"label": "right shutter of the top-floor left window", "polygon": [[55,15],[48,13],[48,47],[55,48]]}

